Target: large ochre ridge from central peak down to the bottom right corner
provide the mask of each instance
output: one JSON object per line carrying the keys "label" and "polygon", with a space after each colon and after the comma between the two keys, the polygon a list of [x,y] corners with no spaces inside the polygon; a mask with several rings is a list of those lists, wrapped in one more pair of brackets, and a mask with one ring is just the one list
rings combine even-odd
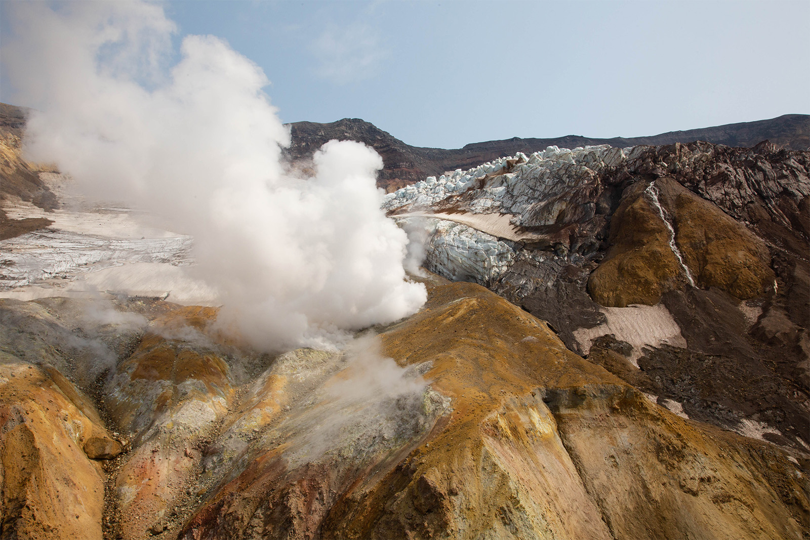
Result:
{"label": "large ochre ridge from central peak down to the bottom right corner", "polygon": [[[453,397],[454,412],[430,448],[362,495],[335,536],[790,538],[807,527],[798,477],[791,495],[773,496],[783,490],[777,478],[795,470],[784,457],[782,473],[762,474],[756,453],[770,453],[767,445],[652,406],[566,351],[543,323],[477,289],[433,291],[424,312],[383,335],[395,358],[436,355],[427,376]],[[787,503],[794,494],[803,502]],[[747,517],[737,521],[738,511]]]}

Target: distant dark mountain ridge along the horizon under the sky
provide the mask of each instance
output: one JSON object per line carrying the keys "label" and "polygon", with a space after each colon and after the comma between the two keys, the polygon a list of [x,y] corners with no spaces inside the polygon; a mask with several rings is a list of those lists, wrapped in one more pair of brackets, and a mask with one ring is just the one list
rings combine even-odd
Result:
{"label": "distant dark mountain ridge along the horizon under the sky", "polygon": [[556,146],[565,148],[609,144],[612,147],[638,145],[663,145],[674,142],[706,141],[728,147],[754,147],[758,142],[770,140],[788,150],[808,150],[810,147],[810,115],[785,114],[770,120],[717,125],[698,130],[671,131],[648,137],[588,138],[567,135],[557,138],[509,138],[499,141],[473,142],[463,148],[411,147],[394,138],[370,122],[359,118],[321,124],[318,122],[293,122],[292,146],[285,151],[293,160],[309,159],[324,142],[336,138],[356,140],[373,147],[382,155],[385,168],[377,183],[394,191],[404,185],[424,180],[426,176],[439,175],[457,168],[475,167],[505,155],[520,151],[525,154]]}

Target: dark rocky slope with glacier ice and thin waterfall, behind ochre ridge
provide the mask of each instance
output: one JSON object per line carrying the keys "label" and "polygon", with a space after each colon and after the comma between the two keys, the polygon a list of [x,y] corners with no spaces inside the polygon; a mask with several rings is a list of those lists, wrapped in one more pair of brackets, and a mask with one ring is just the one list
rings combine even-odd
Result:
{"label": "dark rocky slope with glacier ice and thin waterfall, behind ochre ridge", "polygon": [[808,171],[808,152],[770,143],[550,147],[385,207],[427,223],[428,268],[531,311],[572,351],[625,342],[604,365],[674,410],[808,449]]}

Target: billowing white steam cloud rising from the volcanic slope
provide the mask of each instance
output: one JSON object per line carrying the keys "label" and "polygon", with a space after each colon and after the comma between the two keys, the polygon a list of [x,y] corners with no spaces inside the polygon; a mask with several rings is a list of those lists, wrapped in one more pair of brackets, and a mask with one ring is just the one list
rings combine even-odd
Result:
{"label": "billowing white steam cloud rising from the volcanic slope", "polygon": [[164,70],[175,27],[160,6],[7,7],[3,62],[39,109],[29,159],[194,235],[199,272],[255,345],[322,345],[424,303],[405,280],[407,236],[380,210],[379,155],[332,141],[313,178],[288,176],[266,76],[224,41],[186,36]]}

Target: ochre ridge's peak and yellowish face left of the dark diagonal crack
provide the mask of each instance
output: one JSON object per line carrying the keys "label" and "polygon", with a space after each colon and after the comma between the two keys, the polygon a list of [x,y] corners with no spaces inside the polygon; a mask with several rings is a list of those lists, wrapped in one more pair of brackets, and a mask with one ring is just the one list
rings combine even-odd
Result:
{"label": "ochre ridge's peak and yellowish face left of the dark diagonal crack", "polygon": [[[610,538],[539,389],[624,383],[484,287],[433,283],[428,291],[420,313],[382,342],[399,364],[433,363],[425,378],[452,398],[450,417],[399,466],[359,478],[325,534]],[[578,511],[566,519],[569,507]]]}

